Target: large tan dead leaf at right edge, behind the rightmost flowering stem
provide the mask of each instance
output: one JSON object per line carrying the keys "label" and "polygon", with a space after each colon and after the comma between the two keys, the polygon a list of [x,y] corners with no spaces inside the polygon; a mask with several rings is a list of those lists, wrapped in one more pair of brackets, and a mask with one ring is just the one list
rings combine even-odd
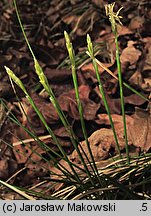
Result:
{"label": "large tan dead leaf at right edge, behind the rightmost flowering stem", "polygon": [[[126,115],[127,133],[130,144],[140,147],[141,151],[147,152],[151,148],[151,113],[150,108],[143,110],[135,109],[132,116]],[[96,122],[98,124],[110,125],[107,114],[99,114]],[[112,120],[117,134],[124,134],[123,119],[121,115],[112,114]]]}

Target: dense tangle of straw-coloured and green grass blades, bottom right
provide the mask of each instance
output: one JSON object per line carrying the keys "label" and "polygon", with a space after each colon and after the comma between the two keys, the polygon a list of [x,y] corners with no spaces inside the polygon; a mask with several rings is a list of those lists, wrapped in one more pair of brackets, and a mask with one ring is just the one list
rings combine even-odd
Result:
{"label": "dense tangle of straw-coloured and green grass blades, bottom right", "polygon": [[[113,162],[114,160],[114,162]],[[90,189],[86,193],[76,193],[75,186],[60,190],[57,196],[60,199],[104,199],[108,193],[109,199],[151,199],[151,154],[135,156],[131,158],[130,164],[127,158],[108,159],[108,165],[101,165],[99,174],[108,180],[108,186],[104,188]],[[89,179],[85,180],[89,184]],[[64,193],[63,193],[64,192]],[[66,193],[65,193],[66,192]]]}

